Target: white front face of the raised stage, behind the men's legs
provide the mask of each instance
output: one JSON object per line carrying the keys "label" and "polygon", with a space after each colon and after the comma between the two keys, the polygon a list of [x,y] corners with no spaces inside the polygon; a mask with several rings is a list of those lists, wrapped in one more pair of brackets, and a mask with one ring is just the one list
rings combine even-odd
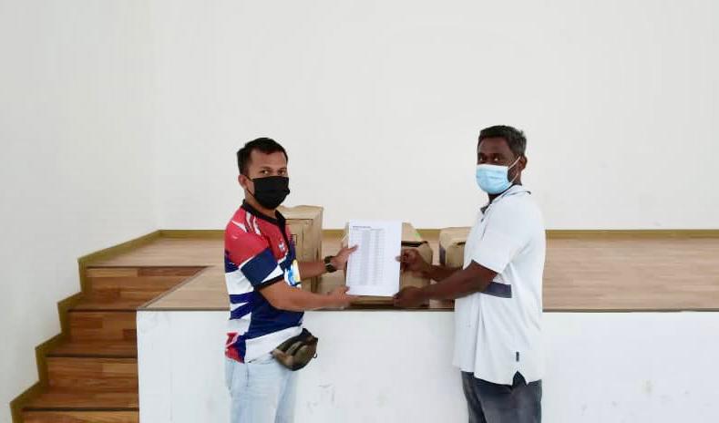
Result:
{"label": "white front face of the raised stage, behind the men's legs", "polygon": [[[140,420],[229,420],[226,320],[221,311],[138,314]],[[543,320],[544,421],[719,421],[719,314],[546,313]],[[451,366],[453,313],[310,312],[304,324],[320,344],[299,375],[297,421],[467,421]]]}

